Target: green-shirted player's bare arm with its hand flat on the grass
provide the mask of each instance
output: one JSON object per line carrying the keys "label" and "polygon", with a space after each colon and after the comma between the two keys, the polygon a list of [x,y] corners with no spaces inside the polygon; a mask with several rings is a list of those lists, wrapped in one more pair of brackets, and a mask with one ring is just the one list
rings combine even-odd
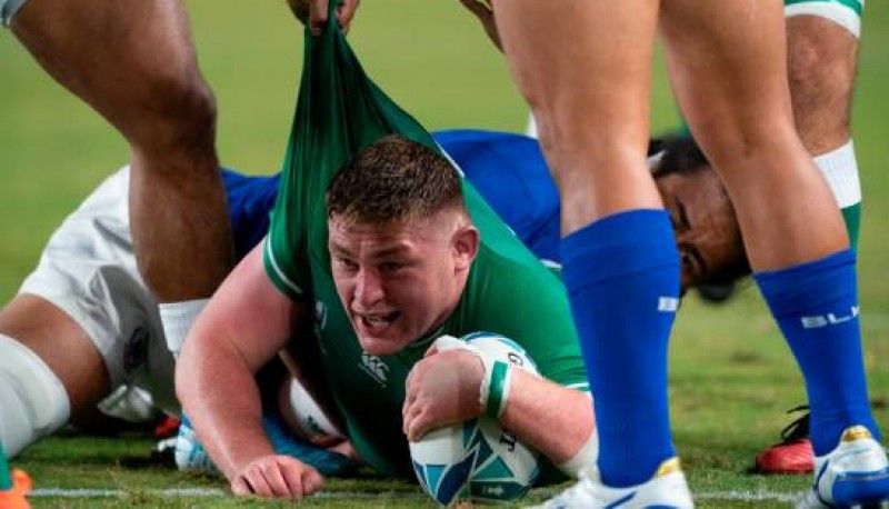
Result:
{"label": "green-shirted player's bare arm with its hand flat on the grass", "polygon": [[274,455],[253,375],[309,315],[269,281],[262,246],[238,265],[194,323],[177,363],[177,393],[236,495],[300,498],[320,488],[321,476]]}

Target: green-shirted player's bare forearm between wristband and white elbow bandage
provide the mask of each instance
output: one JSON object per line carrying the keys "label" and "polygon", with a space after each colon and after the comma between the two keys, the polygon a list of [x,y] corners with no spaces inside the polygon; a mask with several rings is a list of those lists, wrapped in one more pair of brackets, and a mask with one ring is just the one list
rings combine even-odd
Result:
{"label": "green-shirted player's bare forearm between wristband and white elbow bandage", "polygon": [[589,395],[519,369],[513,370],[511,385],[500,423],[522,443],[555,465],[573,458],[588,443],[595,427]]}

